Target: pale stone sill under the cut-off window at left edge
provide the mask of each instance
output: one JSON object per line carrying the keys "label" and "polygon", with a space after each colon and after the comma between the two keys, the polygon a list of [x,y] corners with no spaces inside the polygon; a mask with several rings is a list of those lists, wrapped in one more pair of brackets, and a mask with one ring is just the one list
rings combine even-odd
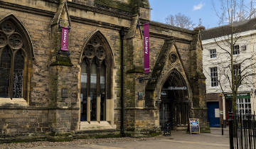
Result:
{"label": "pale stone sill under the cut-off window at left edge", "polygon": [[0,106],[28,106],[28,102],[23,98],[0,98]]}

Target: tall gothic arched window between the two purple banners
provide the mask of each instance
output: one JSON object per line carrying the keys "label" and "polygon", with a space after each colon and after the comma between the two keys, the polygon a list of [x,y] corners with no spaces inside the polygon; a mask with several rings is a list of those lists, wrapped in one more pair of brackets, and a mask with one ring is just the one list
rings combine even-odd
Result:
{"label": "tall gothic arched window between the two purple banners", "polygon": [[97,32],[82,52],[80,121],[107,121],[112,55],[107,42]]}

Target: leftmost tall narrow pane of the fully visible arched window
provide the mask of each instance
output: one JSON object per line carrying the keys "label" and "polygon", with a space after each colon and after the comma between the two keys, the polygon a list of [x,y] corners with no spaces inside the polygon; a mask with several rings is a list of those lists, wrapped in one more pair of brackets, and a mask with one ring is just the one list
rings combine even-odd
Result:
{"label": "leftmost tall narrow pane of the fully visible arched window", "polygon": [[81,66],[81,118],[80,121],[87,121],[87,64],[82,61]]}

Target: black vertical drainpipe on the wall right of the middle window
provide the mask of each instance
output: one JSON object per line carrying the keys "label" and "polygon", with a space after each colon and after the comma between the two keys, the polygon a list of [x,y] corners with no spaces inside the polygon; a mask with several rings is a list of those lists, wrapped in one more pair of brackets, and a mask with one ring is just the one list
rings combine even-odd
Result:
{"label": "black vertical drainpipe on the wall right of the middle window", "polygon": [[121,136],[124,137],[124,27],[119,31],[121,38]]}

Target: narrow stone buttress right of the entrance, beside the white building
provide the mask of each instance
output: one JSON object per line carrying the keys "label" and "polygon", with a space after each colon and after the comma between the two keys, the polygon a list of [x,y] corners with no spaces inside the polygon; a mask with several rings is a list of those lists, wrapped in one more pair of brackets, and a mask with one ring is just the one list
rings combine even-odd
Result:
{"label": "narrow stone buttress right of the entrance, beside the white building", "polygon": [[193,42],[190,49],[190,84],[193,92],[193,104],[191,105],[191,118],[199,118],[201,132],[210,131],[207,122],[206,107],[206,77],[203,75],[203,48],[201,45],[201,30],[204,27],[194,29]]}

